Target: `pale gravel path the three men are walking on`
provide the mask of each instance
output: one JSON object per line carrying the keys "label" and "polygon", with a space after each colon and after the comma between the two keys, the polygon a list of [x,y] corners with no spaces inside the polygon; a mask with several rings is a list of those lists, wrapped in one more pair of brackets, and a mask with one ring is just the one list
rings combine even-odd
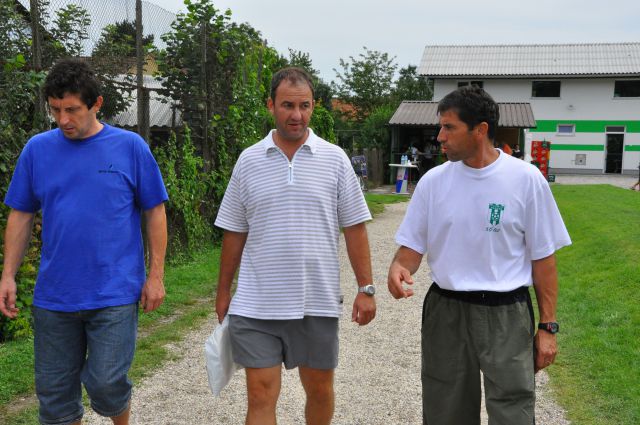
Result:
{"label": "pale gravel path the three men are walking on", "polygon": [[[341,248],[342,288],[345,308],[340,329],[340,364],[336,370],[336,425],[411,425],[422,423],[420,389],[420,314],[428,289],[426,267],[415,276],[416,295],[397,301],[386,290],[387,268],[396,250],[393,237],[407,203],[388,205],[368,225],[374,281],[378,284],[378,314],[372,324],[351,323],[355,282]],[[203,344],[213,328],[213,316],[194,329],[183,343],[171,347],[180,359],[167,363],[136,388],[132,424],[222,424],[244,423],[246,409],[244,372],[238,372],[220,398],[207,386]],[[547,389],[548,377],[538,374],[537,423],[569,424]],[[280,425],[302,425],[304,392],[297,371],[283,371],[278,403]],[[90,409],[89,409],[90,410]],[[87,424],[110,424],[87,412]],[[483,424],[487,423],[486,415]]]}

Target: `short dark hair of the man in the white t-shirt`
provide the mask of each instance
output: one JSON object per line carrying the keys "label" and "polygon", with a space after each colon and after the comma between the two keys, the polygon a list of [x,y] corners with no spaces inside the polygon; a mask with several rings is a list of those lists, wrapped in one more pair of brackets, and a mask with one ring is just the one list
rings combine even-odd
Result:
{"label": "short dark hair of the man in the white t-shirt", "polygon": [[460,121],[469,129],[481,122],[489,125],[487,135],[490,140],[496,137],[496,128],[500,119],[498,104],[489,93],[478,86],[464,86],[452,91],[438,103],[438,114],[453,110],[458,114]]}

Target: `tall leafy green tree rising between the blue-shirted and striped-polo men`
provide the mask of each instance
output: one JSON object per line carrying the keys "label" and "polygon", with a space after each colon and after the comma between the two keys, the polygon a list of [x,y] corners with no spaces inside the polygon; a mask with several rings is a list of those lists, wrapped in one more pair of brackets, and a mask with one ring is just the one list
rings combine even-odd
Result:
{"label": "tall leafy green tree rising between the blue-shirted and striped-polo men", "polygon": [[[187,13],[179,14],[172,31],[162,37],[167,47],[159,58],[159,69],[166,94],[193,130],[194,145],[203,156],[205,169],[218,170],[224,162],[220,156],[227,153],[220,144],[236,142],[228,137],[224,118],[229,112],[232,117],[243,114],[238,103],[251,102],[253,97],[247,90],[253,94],[253,90],[268,87],[261,80],[268,54],[257,31],[229,22],[229,10],[221,13],[210,0],[186,5]],[[247,61],[253,64],[255,74],[241,69]],[[260,103],[262,97],[257,96]],[[252,121],[246,124],[250,127]]]}

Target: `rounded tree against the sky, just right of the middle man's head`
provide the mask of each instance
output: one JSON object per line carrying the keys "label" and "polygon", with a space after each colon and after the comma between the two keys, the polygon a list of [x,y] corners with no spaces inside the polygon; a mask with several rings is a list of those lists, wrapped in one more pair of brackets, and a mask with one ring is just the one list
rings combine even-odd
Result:
{"label": "rounded tree against the sky, just right of the middle man's head", "polygon": [[388,103],[397,65],[395,57],[364,47],[358,59],[340,59],[342,73],[335,68],[339,82],[336,89],[340,100],[355,108],[355,117],[363,121],[376,107]]}

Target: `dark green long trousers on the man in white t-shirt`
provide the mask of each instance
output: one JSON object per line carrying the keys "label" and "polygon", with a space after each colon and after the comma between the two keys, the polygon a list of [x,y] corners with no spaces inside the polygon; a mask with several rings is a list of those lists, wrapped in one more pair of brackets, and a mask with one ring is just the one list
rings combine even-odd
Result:
{"label": "dark green long trousers on the man in white t-shirt", "polygon": [[479,425],[482,371],[489,425],[535,424],[533,321],[528,291],[483,305],[434,284],[422,312],[423,423]]}

